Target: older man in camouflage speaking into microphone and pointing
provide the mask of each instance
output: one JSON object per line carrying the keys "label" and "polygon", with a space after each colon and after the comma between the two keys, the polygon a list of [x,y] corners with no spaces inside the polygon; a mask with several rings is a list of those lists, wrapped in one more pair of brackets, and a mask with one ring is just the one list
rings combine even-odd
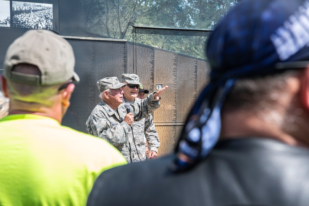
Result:
{"label": "older man in camouflage speaking into microphone and pointing", "polygon": [[99,80],[97,86],[102,100],[93,109],[86,122],[89,134],[110,142],[129,163],[141,161],[133,141],[131,125],[134,120],[142,120],[160,106],[160,96],[168,86],[134,104],[128,114],[122,102],[121,89],[126,84],[120,83],[117,77],[108,77]]}

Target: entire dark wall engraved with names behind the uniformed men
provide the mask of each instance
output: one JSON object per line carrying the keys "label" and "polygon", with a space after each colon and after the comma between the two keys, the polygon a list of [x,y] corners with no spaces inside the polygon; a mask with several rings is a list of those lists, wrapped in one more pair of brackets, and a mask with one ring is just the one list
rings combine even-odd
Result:
{"label": "entire dark wall engraved with names behind the uniformed men", "polygon": [[190,108],[208,81],[208,62],[132,42],[66,39],[74,49],[75,70],[81,81],[76,84],[62,124],[87,133],[86,120],[100,102],[96,82],[111,76],[121,81],[121,74],[135,73],[150,91],[155,91],[157,85],[169,86],[153,117],[161,142],[158,154],[162,157],[171,153]]}

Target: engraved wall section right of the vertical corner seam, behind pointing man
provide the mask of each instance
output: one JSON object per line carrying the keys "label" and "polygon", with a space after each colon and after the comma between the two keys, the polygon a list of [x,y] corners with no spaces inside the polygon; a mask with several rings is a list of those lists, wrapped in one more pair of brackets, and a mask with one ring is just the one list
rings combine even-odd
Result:
{"label": "engraved wall section right of the vertical corner seam, behind pointing man", "polygon": [[[136,65],[136,66],[134,66]],[[128,72],[139,75],[144,88],[168,85],[153,113],[161,146],[158,155],[171,153],[188,112],[209,81],[208,61],[181,53],[128,42]]]}

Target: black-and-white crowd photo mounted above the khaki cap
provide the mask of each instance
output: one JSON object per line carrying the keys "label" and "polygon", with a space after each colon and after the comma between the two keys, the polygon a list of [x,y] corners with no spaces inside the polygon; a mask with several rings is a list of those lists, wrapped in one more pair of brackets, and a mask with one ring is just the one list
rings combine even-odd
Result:
{"label": "black-and-white crowd photo mounted above the khaki cap", "polygon": [[12,2],[13,27],[53,29],[53,4]]}

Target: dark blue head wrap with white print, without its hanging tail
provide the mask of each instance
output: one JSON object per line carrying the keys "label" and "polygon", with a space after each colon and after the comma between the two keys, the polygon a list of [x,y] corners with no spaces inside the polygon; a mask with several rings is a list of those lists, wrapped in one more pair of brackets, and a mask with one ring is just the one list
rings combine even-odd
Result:
{"label": "dark blue head wrap with white print, without its hanging tail", "polygon": [[309,63],[308,14],[306,0],[246,0],[237,4],[208,40],[211,76],[252,77],[305,68]]}

